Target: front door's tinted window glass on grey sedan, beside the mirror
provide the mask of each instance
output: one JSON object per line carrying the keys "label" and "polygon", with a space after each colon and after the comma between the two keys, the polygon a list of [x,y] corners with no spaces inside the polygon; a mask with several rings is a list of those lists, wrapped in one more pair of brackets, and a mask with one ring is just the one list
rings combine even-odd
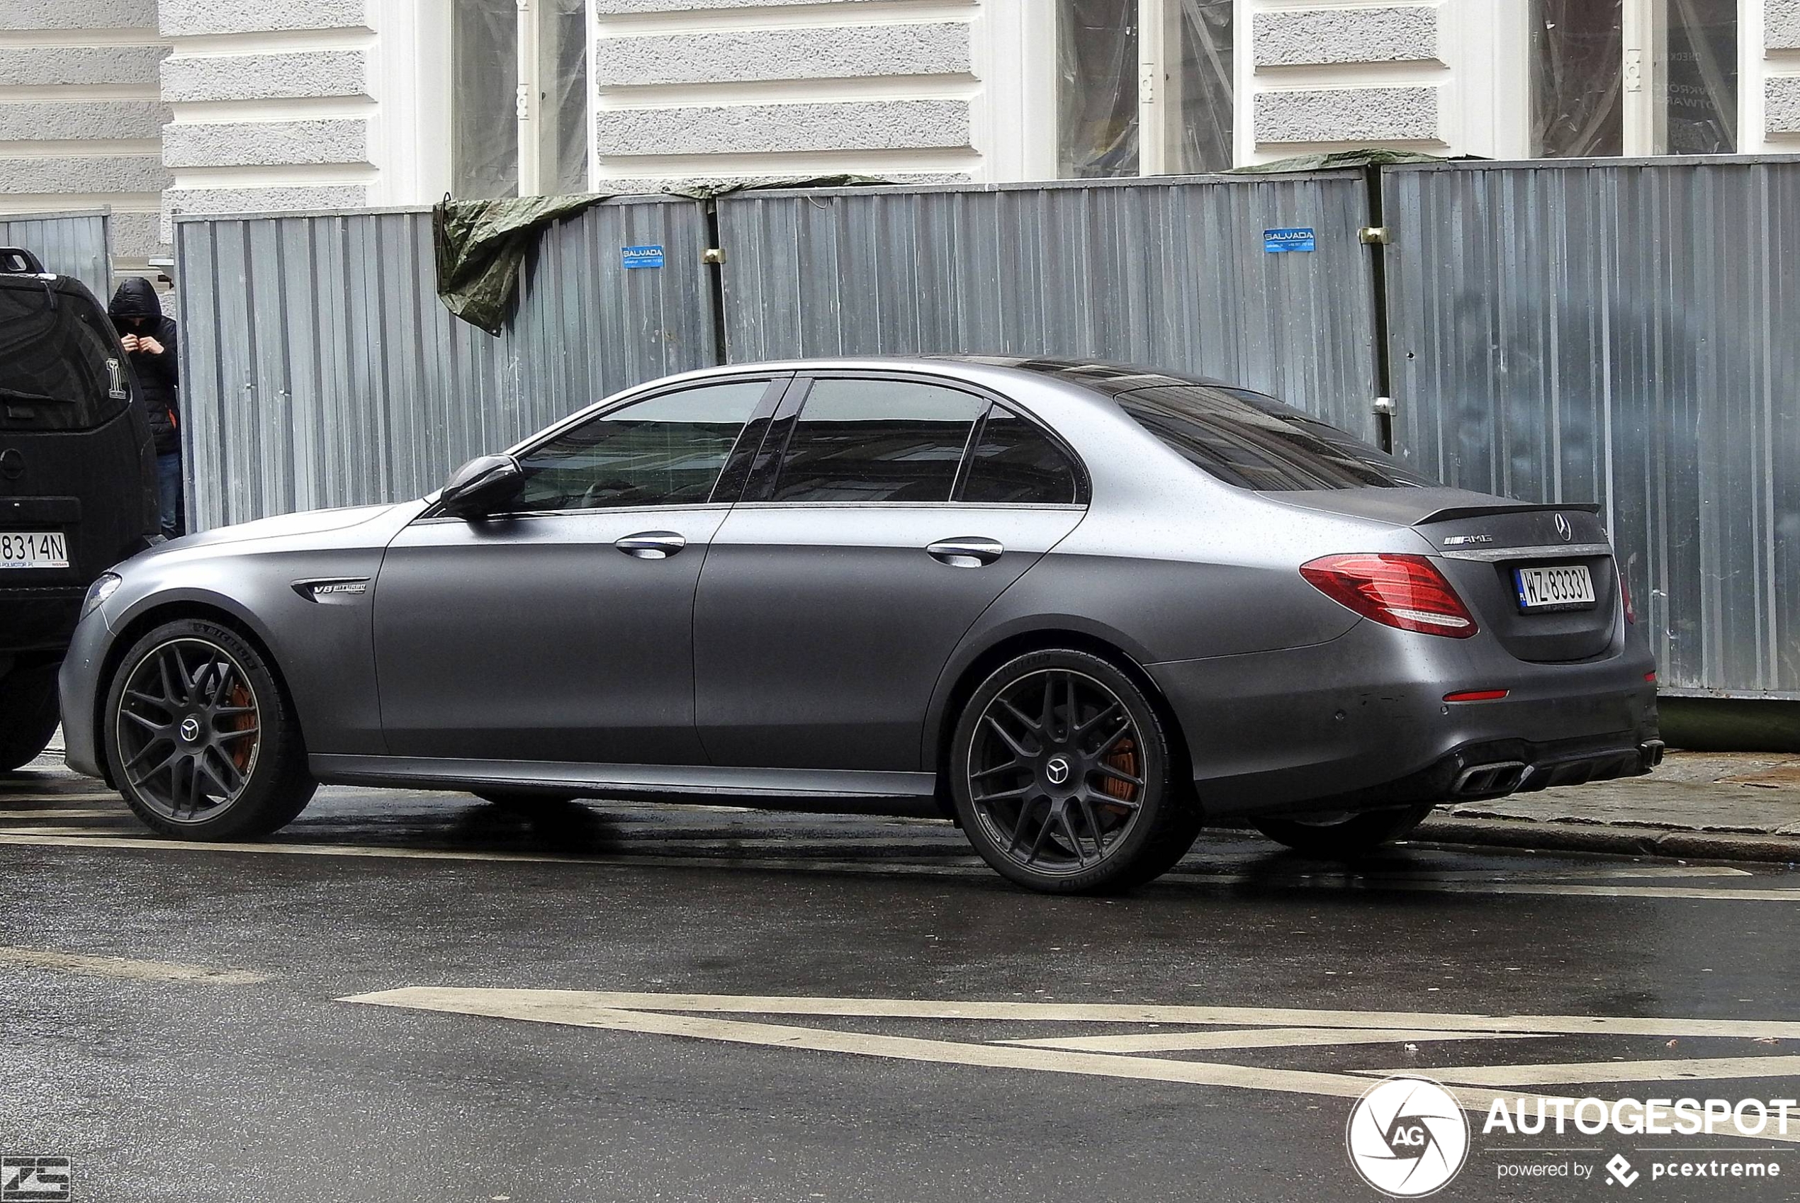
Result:
{"label": "front door's tinted window glass on grey sedan, beside the mirror", "polygon": [[565,430],[520,457],[517,509],[700,505],[769,381],[671,392]]}

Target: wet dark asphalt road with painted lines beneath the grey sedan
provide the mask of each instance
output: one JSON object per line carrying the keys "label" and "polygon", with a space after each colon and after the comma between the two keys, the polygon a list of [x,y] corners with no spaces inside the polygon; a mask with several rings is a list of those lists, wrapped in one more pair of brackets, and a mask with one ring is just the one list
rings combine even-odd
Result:
{"label": "wet dark asphalt road with painted lines beneath the grey sedan", "polygon": [[[209,849],[40,764],[0,779],[0,1154],[70,1156],[77,1199],[1375,1199],[1345,1127],[1382,1072],[1800,1095],[1796,948],[1777,869],[1406,845],[1346,872],[1220,833],[1132,897],[1049,899],[945,824],[362,789]],[[1435,1198],[1800,1181],[1800,1122],[1481,1118]],[[1652,1181],[1676,1158],[1786,1176]],[[1532,1163],[1593,1178],[1499,1178]]]}

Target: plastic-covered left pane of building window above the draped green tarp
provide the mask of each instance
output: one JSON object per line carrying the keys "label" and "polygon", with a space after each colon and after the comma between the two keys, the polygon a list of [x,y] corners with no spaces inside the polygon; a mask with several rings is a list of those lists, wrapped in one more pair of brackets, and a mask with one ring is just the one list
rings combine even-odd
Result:
{"label": "plastic-covered left pane of building window above the draped green tarp", "polygon": [[450,187],[455,196],[518,194],[518,5],[452,0]]}

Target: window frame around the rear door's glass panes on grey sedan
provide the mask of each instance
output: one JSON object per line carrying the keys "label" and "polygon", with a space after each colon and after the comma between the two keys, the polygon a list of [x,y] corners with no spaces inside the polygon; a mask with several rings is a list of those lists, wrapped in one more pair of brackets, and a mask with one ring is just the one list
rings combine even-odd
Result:
{"label": "window frame around the rear door's glass panes on grey sedan", "polygon": [[[956,464],[956,478],[950,486],[950,496],[943,502],[778,502],[774,500],[776,477],[779,475],[781,462],[787,459],[788,439],[794,435],[794,426],[799,417],[806,412],[806,397],[812,394],[812,385],[821,379],[898,379],[911,381],[918,385],[931,385],[934,388],[950,388],[954,392],[967,392],[970,397],[983,401],[985,406],[976,421],[968,428],[968,437],[963,442],[963,457]],[[963,484],[968,478],[968,469],[972,466],[972,457],[977,446],[981,446],[981,432],[988,424],[988,414],[999,406],[1008,414],[1035,426],[1051,446],[1057,448],[1075,468],[1075,502],[965,502],[961,500]],[[756,509],[1087,509],[1091,505],[1093,487],[1087,477],[1087,464],[1082,457],[1075,453],[1069,441],[1057,433],[1049,424],[1040,421],[1028,408],[1013,401],[1012,397],[1003,397],[992,388],[985,388],[972,381],[961,379],[959,376],[938,376],[932,372],[920,370],[889,370],[889,369],[835,369],[821,367],[815,370],[801,370],[794,374],[794,381],[788,385],[787,396],[783,396],[779,408],[776,410],[774,421],[770,423],[769,433],[763,441],[763,448],[756,455],[756,471],[751,482],[745,486],[738,505],[754,505]]]}

